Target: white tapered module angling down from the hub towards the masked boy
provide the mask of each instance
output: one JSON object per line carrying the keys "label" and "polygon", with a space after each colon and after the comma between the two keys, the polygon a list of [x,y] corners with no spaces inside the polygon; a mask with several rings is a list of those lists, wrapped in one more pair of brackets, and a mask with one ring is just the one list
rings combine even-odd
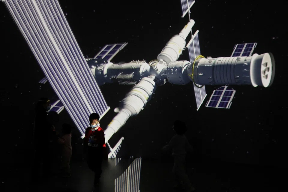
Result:
{"label": "white tapered module angling down from the hub towards the masked boy", "polygon": [[114,110],[118,114],[104,131],[106,142],[126,123],[129,117],[140,113],[154,91],[155,82],[149,77],[143,77],[137,85],[134,85],[132,90],[121,101],[120,107]]}

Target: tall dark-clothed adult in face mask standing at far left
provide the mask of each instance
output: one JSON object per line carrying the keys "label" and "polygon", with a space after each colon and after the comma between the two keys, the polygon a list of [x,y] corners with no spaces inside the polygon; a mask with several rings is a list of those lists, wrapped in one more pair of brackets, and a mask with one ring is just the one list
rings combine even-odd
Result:
{"label": "tall dark-clothed adult in face mask standing at far left", "polygon": [[41,163],[43,163],[43,176],[51,176],[49,143],[55,137],[56,131],[48,120],[48,110],[51,104],[48,98],[40,98],[35,107],[34,122],[34,164],[32,169],[32,179],[38,181]]}

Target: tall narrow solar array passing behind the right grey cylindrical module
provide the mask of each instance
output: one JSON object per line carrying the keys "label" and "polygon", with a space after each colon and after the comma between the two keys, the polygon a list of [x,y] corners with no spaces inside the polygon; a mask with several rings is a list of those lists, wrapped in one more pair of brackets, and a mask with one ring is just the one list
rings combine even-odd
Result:
{"label": "tall narrow solar array passing behind the right grey cylindrical module", "polygon": [[[189,43],[187,44],[188,52],[189,52],[189,59],[191,64],[194,63],[194,60],[197,56],[201,55],[200,53],[200,46],[199,46],[199,38],[198,38],[198,30],[195,32]],[[198,87],[197,87],[197,86]],[[205,86],[198,85],[195,83],[193,84],[194,87],[194,93],[196,98],[196,104],[197,104],[197,110],[199,110],[201,104],[203,103],[205,97],[206,97],[206,91]],[[201,87],[201,88],[199,88]]]}

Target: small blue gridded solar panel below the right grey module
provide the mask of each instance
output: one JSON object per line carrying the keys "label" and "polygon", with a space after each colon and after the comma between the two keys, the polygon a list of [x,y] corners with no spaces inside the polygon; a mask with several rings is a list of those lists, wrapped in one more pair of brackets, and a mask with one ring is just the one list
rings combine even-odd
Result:
{"label": "small blue gridded solar panel below the right grey module", "polygon": [[222,86],[213,91],[209,101],[205,107],[225,108],[229,109],[232,104],[232,99],[235,95],[235,90],[228,86]]}

